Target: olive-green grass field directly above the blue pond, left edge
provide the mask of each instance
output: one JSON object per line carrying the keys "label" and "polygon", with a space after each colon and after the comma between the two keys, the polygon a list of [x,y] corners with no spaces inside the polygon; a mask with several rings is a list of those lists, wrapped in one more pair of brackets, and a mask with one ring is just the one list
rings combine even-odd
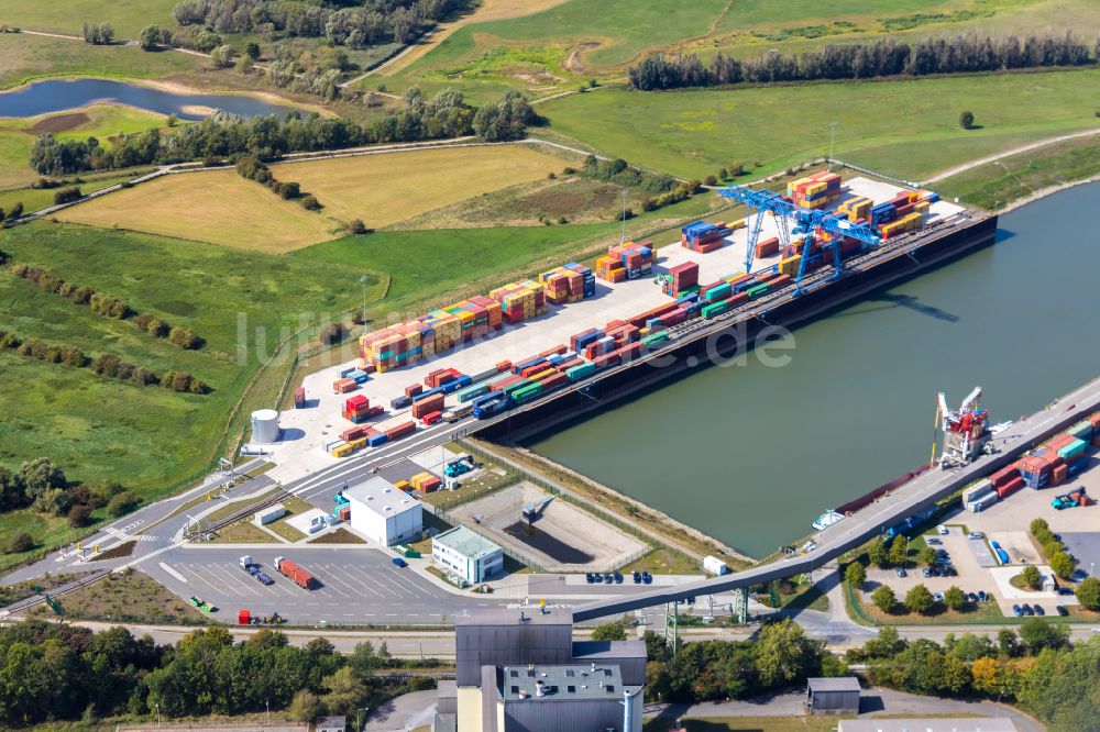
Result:
{"label": "olive-green grass field directly above the blue pond, left edge", "polygon": [[[10,4],[20,0],[3,0]],[[37,3],[43,8],[50,3]],[[0,14],[0,16],[3,16]],[[79,32],[79,23],[77,23]],[[0,36],[0,89],[57,76],[153,78],[198,71],[204,59],[176,52],[145,53],[138,46],[94,46],[26,33]]]}

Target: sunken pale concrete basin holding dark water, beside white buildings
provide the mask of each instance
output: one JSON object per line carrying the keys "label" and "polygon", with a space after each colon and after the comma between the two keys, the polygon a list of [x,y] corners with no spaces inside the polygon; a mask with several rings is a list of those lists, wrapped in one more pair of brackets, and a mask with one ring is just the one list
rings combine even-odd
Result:
{"label": "sunken pale concrete basin holding dark water, beside white buildings", "polygon": [[450,515],[550,572],[606,572],[647,550],[641,541],[560,498],[550,501],[528,533],[522,508],[546,497],[541,488],[524,481],[463,503]]}

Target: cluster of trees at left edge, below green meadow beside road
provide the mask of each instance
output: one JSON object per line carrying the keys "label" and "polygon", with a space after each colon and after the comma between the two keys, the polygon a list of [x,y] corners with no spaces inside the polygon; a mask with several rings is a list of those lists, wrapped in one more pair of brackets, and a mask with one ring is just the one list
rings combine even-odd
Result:
{"label": "cluster of trees at left edge, below green meadow beside road", "polygon": [[[103,508],[108,515],[124,515],[138,507],[139,499],[117,481],[96,486],[70,483],[65,472],[46,457],[20,464],[16,470],[0,465],[0,512],[32,508],[50,515],[68,518],[74,529],[91,522],[91,512]],[[33,537],[15,532],[4,539],[0,550],[10,553],[34,548]],[[3,708],[0,695],[0,709]]]}

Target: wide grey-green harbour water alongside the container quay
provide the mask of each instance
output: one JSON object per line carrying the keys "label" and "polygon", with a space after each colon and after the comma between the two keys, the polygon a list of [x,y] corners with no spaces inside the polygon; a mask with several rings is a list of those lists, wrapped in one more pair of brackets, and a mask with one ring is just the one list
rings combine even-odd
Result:
{"label": "wide grey-green harbour water alongside the container quay", "polygon": [[1000,219],[997,244],[794,331],[790,364],[711,367],[531,447],[752,556],[927,462],[936,392],[992,421],[1100,374],[1100,184]]}

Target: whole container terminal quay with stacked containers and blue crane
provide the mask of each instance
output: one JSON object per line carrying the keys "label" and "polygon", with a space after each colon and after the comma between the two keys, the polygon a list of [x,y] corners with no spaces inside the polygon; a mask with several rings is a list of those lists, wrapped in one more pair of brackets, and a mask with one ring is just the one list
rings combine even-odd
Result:
{"label": "whole container terminal quay with stacked containers and blue crane", "polygon": [[[744,189],[739,195],[754,192]],[[858,223],[906,195],[916,200],[898,210],[922,210],[879,223],[876,230],[865,228],[876,234],[873,244],[845,235],[843,244],[837,236],[836,246],[826,248],[829,232],[816,229],[826,244],[812,243],[822,246],[816,260],[807,256],[799,262],[807,224],[787,215],[791,211],[817,215],[811,226],[837,212]],[[279,415],[279,428],[300,431],[301,439],[258,448],[277,464],[273,475],[286,481],[410,436],[421,444],[474,432],[525,439],[705,363],[743,354],[769,326],[793,326],[820,317],[985,246],[997,230],[996,215],[864,177],[826,186],[816,200],[806,196],[813,193],[791,191],[778,208],[735,198],[750,204],[750,215],[740,222],[692,224],[680,242],[663,246],[624,243],[612,247],[615,256],[597,259],[594,275],[571,264],[547,273],[542,282],[526,280],[494,290],[495,299],[472,298],[448,309],[470,317],[459,326],[472,320],[473,311],[488,311],[487,318],[475,321],[476,335],[469,342],[455,330],[446,341],[437,335],[430,347],[414,346],[420,348],[416,355],[394,356],[394,351],[367,341],[361,358],[306,377],[296,403],[309,408]],[[914,214],[920,228],[912,223]],[[712,233],[707,241],[698,234],[701,226],[717,235]],[[836,266],[842,252],[843,269]],[[631,273],[612,259],[639,269]],[[686,282],[685,271],[691,275]],[[578,281],[578,289],[565,285],[556,293],[552,280],[569,278]],[[690,315],[681,320],[685,312]],[[448,317],[433,311],[415,325],[424,329]],[[389,339],[384,343],[408,339],[404,346],[384,347],[408,348],[413,336],[403,335],[408,330],[380,329]],[[441,326],[436,331],[442,333]],[[623,333],[628,337],[612,337]],[[378,336],[373,337],[377,343]],[[601,350],[605,341],[614,341],[607,346],[614,351]],[[475,417],[475,408],[483,404]]]}

